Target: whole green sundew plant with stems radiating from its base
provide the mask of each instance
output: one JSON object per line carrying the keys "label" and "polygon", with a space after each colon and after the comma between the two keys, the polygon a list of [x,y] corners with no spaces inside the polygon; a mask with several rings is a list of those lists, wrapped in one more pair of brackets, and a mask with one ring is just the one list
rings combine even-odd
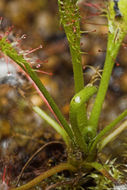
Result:
{"label": "whole green sundew plant with stems radiating from its base", "polygon": [[[89,5],[92,6],[91,3]],[[87,173],[92,175],[92,169],[95,169],[107,178],[107,180],[111,181],[112,184],[120,183],[118,179],[112,176],[107,166],[99,163],[97,155],[112,138],[118,136],[126,128],[127,121],[124,121],[118,128],[115,127],[116,124],[127,116],[127,110],[121,113],[110,124],[104,126],[100,132],[98,132],[98,125],[115,59],[127,33],[127,1],[111,0],[106,3],[107,8],[100,8],[100,14],[105,16],[108,21],[108,39],[106,58],[99,87],[91,83],[84,85],[81,64],[82,52],[80,50],[82,31],[80,29],[78,1],[58,0],[58,7],[60,23],[63,25],[69,43],[74,73],[75,94],[70,102],[69,121],[65,119],[49,92],[31,68],[30,63],[25,59],[24,54],[19,54],[8,40],[7,35],[0,36],[0,51],[26,73],[39,95],[45,100],[51,112],[54,114],[56,121],[50,118],[39,107],[34,106],[33,110],[61,135],[66,144],[67,151],[66,162],[56,165],[22,186],[10,187],[9,189],[11,190],[31,189],[41,183],[42,180],[63,170],[69,170],[75,174],[80,172],[82,174]],[[95,96],[95,101],[90,117],[88,118],[86,105],[93,95]],[[115,133],[111,132],[113,129]]]}

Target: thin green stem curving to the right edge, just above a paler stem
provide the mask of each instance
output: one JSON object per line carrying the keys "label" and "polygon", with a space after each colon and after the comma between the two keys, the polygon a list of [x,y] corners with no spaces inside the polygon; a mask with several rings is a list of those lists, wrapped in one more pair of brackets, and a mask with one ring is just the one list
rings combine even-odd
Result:
{"label": "thin green stem curving to the right edge, just above a paler stem", "polygon": [[94,142],[92,143],[89,149],[89,159],[92,159],[93,152],[96,151],[97,143],[104,137],[108,132],[110,132],[124,117],[127,116],[127,110],[120,114],[114,121],[107,125],[100,133],[95,137]]}

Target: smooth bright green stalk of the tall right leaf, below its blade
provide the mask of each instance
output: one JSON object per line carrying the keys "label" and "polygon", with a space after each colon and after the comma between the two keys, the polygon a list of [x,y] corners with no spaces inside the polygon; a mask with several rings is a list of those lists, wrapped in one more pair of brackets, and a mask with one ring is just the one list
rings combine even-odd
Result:
{"label": "smooth bright green stalk of the tall right leaf, below its blade", "polygon": [[[96,132],[98,128],[98,121],[99,121],[102,105],[103,105],[104,98],[108,89],[108,84],[109,84],[110,76],[112,73],[112,69],[113,69],[121,42],[124,38],[124,34],[120,33],[119,31],[120,29],[117,28],[115,32],[113,33],[109,32],[109,35],[108,35],[107,54],[106,54],[106,60],[104,64],[104,70],[103,70],[99,90],[98,90],[95,103],[91,112],[90,120],[89,120],[89,124],[93,126]],[[95,133],[95,136],[96,136],[96,133]]]}

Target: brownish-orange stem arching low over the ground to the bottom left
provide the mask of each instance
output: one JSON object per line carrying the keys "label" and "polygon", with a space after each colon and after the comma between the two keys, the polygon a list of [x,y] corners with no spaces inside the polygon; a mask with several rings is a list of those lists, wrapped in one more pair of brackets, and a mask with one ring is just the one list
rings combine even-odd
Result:
{"label": "brownish-orange stem arching low over the ground to the bottom left", "polygon": [[46,172],[40,174],[38,177],[34,178],[33,180],[31,180],[30,182],[28,182],[25,185],[22,185],[20,187],[16,187],[16,188],[10,188],[10,190],[27,190],[27,189],[31,189],[33,187],[35,187],[36,185],[38,185],[39,183],[41,183],[42,180],[58,173],[64,170],[69,170],[69,171],[76,171],[76,168],[74,166],[72,166],[69,163],[61,163],[49,170],[47,170]]}

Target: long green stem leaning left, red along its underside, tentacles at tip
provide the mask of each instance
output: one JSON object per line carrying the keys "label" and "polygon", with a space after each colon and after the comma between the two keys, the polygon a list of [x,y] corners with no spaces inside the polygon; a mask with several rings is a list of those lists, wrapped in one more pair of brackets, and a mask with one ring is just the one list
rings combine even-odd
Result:
{"label": "long green stem leaning left, red along its underside, tentacles at tip", "polygon": [[17,63],[25,72],[29,75],[29,77],[32,79],[32,81],[35,83],[35,85],[38,87],[40,92],[44,95],[45,99],[51,106],[52,110],[56,114],[58,120],[64,127],[65,131],[67,132],[68,136],[71,140],[73,140],[73,133],[71,131],[70,126],[68,125],[66,119],[62,115],[60,109],[42,84],[41,80],[37,76],[37,74],[33,71],[30,64],[24,59],[23,55],[18,55],[17,51],[11,46],[10,43],[6,40],[6,38],[2,38],[0,40],[0,50],[10,57],[15,63]]}

